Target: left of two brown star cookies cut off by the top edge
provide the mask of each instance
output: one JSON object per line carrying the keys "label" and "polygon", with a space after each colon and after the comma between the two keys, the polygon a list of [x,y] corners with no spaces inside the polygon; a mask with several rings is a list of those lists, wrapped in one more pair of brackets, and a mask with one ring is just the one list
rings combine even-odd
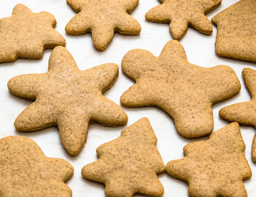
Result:
{"label": "left of two brown star cookies cut off by the top edge", "polygon": [[115,32],[139,35],[141,26],[129,15],[139,0],[67,0],[77,14],[68,22],[65,31],[70,35],[92,33],[98,50],[105,50]]}

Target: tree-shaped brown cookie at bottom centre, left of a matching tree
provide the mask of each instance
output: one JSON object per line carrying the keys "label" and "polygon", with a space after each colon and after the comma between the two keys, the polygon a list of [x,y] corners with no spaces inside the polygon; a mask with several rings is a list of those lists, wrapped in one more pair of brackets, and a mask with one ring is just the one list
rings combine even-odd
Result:
{"label": "tree-shaped brown cookie at bottom centre, left of a matching tree", "polygon": [[99,146],[99,159],[85,165],[82,175],[105,184],[108,197],[132,197],[135,193],[160,197],[164,188],[157,174],[164,172],[165,166],[156,144],[148,118],[141,118],[119,138]]}

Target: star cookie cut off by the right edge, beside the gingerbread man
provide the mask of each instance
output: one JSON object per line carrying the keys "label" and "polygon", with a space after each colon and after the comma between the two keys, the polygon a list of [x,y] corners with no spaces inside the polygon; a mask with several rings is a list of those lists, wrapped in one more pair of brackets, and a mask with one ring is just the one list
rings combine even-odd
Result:
{"label": "star cookie cut off by the right edge, beside the gingerbread man", "polygon": [[[242,75],[252,100],[224,107],[220,109],[219,115],[228,122],[256,128],[256,70],[244,68]],[[252,160],[256,162],[256,135],[252,142]]]}

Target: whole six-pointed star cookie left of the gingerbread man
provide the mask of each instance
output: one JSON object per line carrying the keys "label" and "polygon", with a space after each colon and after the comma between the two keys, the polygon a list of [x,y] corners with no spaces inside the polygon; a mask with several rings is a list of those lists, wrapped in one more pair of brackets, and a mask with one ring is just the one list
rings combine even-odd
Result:
{"label": "whole six-pointed star cookie left of the gingerbread man", "polygon": [[16,118],[15,128],[34,131],[57,125],[65,149],[78,154],[90,123],[116,126],[127,122],[124,110],[102,95],[115,83],[118,69],[115,63],[107,63],[81,71],[67,49],[57,46],[48,72],[9,80],[11,94],[34,101]]}

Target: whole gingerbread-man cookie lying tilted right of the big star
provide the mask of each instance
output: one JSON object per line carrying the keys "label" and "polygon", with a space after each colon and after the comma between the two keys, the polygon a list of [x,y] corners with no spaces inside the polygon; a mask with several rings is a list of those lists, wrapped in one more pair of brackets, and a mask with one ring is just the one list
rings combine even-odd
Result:
{"label": "whole gingerbread-man cookie lying tilted right of the big star", "polygon": [[122,59],[122,69],[136,83],[121,95],[121,105],[159,107],[187,138],[210,134],[213,103],[241,88],[229,66],[204,68],[189,63],[177,40],[167,42],[159,57],[142,49],[130,50]]}

